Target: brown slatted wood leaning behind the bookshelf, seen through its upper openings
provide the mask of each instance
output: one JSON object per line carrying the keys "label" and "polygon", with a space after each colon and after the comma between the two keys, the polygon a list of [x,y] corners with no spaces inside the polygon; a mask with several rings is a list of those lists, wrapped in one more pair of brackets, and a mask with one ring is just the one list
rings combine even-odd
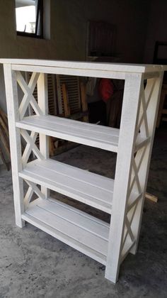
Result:
{"label": "brown slatted wood leaning behind the bookshelf, seen through its upper openings", "polygon": [[[57,75],[57,116],[88,122],[86,86],[79,77]],[[54,156],[76,147],[76,143],[50,137],[50,155]]]}

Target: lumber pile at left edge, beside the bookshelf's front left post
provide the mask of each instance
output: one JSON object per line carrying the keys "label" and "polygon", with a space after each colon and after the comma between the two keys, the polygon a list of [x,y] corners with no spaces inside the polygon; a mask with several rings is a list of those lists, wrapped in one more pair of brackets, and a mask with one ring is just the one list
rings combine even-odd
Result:
{"label": "lumber pile at left edge, beside the bookshelf's front left post", "polygon": [[8,138],[8,118],[4,111],[0,109],[0,157],[6,169],[9,170],[8,160],[11,159],[10,147],[9,147],[9,138]]}

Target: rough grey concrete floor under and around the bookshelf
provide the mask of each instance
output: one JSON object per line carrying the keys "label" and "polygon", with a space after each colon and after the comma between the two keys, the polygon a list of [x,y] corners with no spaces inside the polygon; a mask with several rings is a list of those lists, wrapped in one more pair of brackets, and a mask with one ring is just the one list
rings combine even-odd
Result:
{"label": "rough grey concrete floor under and around the bookshelf", "polygon": [[[166,131],[161,128],[156,133],[147,187],[159,201],[146,200],[137,255],[129,254],[122,263],[116,285],[105,280],[105,267],[95,260],[30,224],[23,229],[16,227],[11,172],[0,171],[0,298],[166,297]],[[108,177],[114,175],[115,154],[96,148],[79,146],[57,160]],[[78,206],[109,220],[100,211]]]}

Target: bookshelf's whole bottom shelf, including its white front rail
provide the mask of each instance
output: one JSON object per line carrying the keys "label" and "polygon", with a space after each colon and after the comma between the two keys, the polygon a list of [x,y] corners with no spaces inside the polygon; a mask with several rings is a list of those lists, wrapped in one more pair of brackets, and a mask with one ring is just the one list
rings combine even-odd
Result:
{"label": "bookshelf's whole bottom shelf, including its white front rail", "polygon": [[106,265],[109,224],[56,199],[35,199],[22,219]]}

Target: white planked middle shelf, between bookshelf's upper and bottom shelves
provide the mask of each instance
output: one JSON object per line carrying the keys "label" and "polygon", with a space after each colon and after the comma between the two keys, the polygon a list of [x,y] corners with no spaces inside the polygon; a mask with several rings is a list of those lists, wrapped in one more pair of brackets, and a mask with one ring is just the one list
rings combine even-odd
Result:
{"label": "white planked middle shelf, between bookshelf's upper and bottom shelves", "polygon": [[35,160],[20,177],[111,214],[114,181],[55,160]]}

